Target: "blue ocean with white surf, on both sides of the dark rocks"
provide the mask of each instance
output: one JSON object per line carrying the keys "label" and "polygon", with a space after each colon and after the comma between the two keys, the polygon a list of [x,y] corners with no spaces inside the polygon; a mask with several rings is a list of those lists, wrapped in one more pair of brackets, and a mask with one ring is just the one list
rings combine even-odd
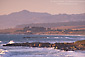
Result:
{"label": "blue ocean with white surf, on both sides of the dark rocks", "polygon": [[[24,38],[35,37],[35,38]],[[46,38],[41,38],[46,37]],[[3,46],[13,41],[15,43],[43,42],[62,43],[85,40],[85,36],[80,35],[11,35],[0,34],[0,57],[85,57],[85,51],[64,51],[54,48],[38,48],[25,46]]]}

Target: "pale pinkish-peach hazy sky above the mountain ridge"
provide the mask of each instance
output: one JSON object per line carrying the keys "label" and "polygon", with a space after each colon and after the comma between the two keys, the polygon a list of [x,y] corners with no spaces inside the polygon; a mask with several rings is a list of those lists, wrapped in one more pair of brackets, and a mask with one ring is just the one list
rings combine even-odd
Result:
{"label": "pale pinkish-peach hazy sky above the mountain ridge", "polygon": [[85,0],[0,0],[0,15],[21,10],[79,14],[85,13]]}

